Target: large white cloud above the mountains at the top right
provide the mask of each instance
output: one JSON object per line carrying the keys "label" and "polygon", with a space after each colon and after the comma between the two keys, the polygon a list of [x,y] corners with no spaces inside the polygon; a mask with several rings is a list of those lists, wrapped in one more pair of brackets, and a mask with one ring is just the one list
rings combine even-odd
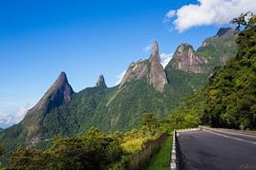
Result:
{"label": "large white cloud above the mountains at the top right", "polygon": [[[256,13],[255,0],[198,0],[198,2],[198,5],[185,5],[173,12],[177,17],[173,24],[180,32],[199,26],[223,25],[246,11]],[[173,17],[172,13],[170,16]]]}

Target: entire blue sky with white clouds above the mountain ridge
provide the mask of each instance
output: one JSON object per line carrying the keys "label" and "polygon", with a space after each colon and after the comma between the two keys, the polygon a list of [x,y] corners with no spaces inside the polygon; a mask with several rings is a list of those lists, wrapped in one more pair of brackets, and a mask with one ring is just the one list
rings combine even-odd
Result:
{"label": "entire blue sky with white clouds above the mountain ridge", "polygon": [[166,65],[247,10],[255,0],[0,1],[0,127],[20,122],[61,71],[76,92],[100,74],[114,86],[154,40]]}

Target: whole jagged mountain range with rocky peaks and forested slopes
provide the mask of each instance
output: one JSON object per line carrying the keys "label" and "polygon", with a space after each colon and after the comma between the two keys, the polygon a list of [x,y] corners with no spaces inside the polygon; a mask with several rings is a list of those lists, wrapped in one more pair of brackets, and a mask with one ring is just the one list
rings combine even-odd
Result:
{"label": "whole jagged mountain range with rocky peaks and forested slopes", "polygon": [[160,65],[160,47],[155,41],[149,58],[131,63],[114,87],[108,87],[101,75],[96,86],[75,93],[62,72],[21,123],[0,133],[0,140],[10,152],[17,145],[48,141],[58,133],[84,133],[93,125],[107,132],[129,130],[139,125],[146,112],[165,118],[207,83],[215,66],[235,56],[236,37],[234,30],[220,29],[196,51],[181,44],[165,68]]}

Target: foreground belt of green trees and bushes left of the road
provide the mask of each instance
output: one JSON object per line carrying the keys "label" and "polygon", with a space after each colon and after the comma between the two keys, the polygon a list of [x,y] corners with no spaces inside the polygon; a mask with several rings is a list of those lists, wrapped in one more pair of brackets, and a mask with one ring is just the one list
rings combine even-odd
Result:
{"label": "foreground belt of green trees and bushes left of the road", "polygon": [[[169,122],[160,122],[154,114],[143,114],[140,127],[125,133],[106,134],[91,127],[86,134],[75,137],[58,134],[44,151],[34,146],[17,147],[7,169],[123,169],[146,142],[171,129]],[[3,149],[1,146],[0,154]]]}

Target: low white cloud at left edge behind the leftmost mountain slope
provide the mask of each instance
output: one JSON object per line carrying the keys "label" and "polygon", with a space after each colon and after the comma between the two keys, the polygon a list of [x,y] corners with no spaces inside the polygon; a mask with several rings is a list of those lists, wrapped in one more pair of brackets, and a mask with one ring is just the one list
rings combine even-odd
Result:
{"label": "low white cloud at left edge behind the leftmost mountain slope", "polygon": [[19,123],[23,120],[28,110],[31,108],[30,104],[21,106],[14,111],[14,113],[0,112],[0,127],[9,127],[12,124]]}

